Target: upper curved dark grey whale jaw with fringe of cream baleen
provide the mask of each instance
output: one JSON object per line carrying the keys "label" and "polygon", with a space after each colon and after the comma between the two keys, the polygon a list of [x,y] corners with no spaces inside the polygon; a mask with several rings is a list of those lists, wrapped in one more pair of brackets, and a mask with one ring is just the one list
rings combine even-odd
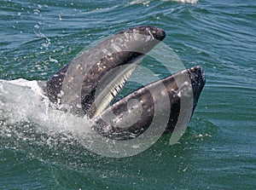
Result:
{"label": "upper curved dark grey whale jaw with fringe of cream baleen", "polygon": [[[122,88],[129,77],[127,75],[165,37],[166,32],[154,26],[137,26],[109,37],[49,78],[46,84],[49,100],[66,105],[76,115],[86,114],[88,118],[95,118],[114,98],[111,91],[99,90],[103,77],[111,72],[117,76],[112,78],[111,88],[117,89],[114,83]],[[101,107],[91,109],[94,102],[102,101],[104,96],[108,99],[103,101]]]}

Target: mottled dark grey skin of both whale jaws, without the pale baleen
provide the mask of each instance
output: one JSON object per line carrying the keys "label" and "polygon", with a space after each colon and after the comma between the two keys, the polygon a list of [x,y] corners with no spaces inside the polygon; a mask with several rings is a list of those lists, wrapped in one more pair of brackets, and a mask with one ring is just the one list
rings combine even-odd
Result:
{"label": "mottled dark grey skin of both whale jaws, without the pale baleen", "polygon": [[[143,37],[130,37],[128,35],[134,33],[143,35],[146,38],[141,39]],[[116,43],[118,49],[121,49],[120,52],[115,52],[109,48],[113,42],[119,41],[119,35],[123,37],[124,34],[125,37],[127,36],[125,42]],[[79,63],[77,74],[84,78],[79,95],[81,109],[73,108],[71,112],[79,116],[87,115],[88,118],[91,118],[90,111],[93,111],[92,105],[96,99],[96,90],[104,75],[108,74],[108,72],[117,66],[121,68],[121,66],[127,66],[127,64],[133,64],[137,60],[143,59],[143,56],[165,37],[166,33],[154,26],[138,26],[119,32],[98,44],[95,48],[90,49],[84,55],[79,56],[67,64],[67,66],[61,68],[59,72],[56,72],[52,78],[49,78],[46,84],[46,93],[49,96],[49,100],[55,103],[61,103],[63,101],[61,90],[64,88],[64,78],[67,78],[69,67]],[[106,50],[111,52],[111,54],[104,55],[102,52]],[[95,61],[94,58],[96,59]],[[85,72],[79,72],[80,70]],[[177,81],[179,80],[182,81],[180,83],[189,83],[190,89],[186,85],[177,85]],[[193,109],[188,116],[190,118],[195,110],[205,82],[204,71],[200,66],[197,66],[160,79],[157,82],[150,83],[141,89],[137,89],[130,95],[126,95],[101,112],[99,116],[93,118],[95,125],[92,128],[99,134],[115,140],[132,139],[143,134],[152,123],[154,117],[161,120],[161,117],[166,117],[164,113],[167,112],[170,114],[168,114],[169,119],[167,124],[163,124],[166,126],[158,127],[166,127],[166,131],[172,131],[177,124],[181,110],[180,95],[186,95],[184,92],[189,92],[189,90],[193,91],[190,94],[188,93],[188,97],[186,97],[188,100],[186,101],[187,106]],[[73,85],[73,83],[69,85]],[[161,91],[162,93],[160,93]],[[164,91],[167,93],[164,93]],[[183,93],[181,94],[180,92]],[[70,97],[70,100],[66,101],[67,106],[74,107],[74,102],[76,101],[73,101],[73,97]],[[132,100],[137,100],[137,102],[131,104],[130,108],[127,108],[127,103]],[[163,100],[169,100],[170,102],[165,104],[162,102]],[[140,106],[137,106],[137,104]],[[154,112],[156,104],[163,105],[160,112]],[[140,114],[139,118],[137,118],[138,112]],[[134,124],[130,124],[132,119],[136,119]]]}

